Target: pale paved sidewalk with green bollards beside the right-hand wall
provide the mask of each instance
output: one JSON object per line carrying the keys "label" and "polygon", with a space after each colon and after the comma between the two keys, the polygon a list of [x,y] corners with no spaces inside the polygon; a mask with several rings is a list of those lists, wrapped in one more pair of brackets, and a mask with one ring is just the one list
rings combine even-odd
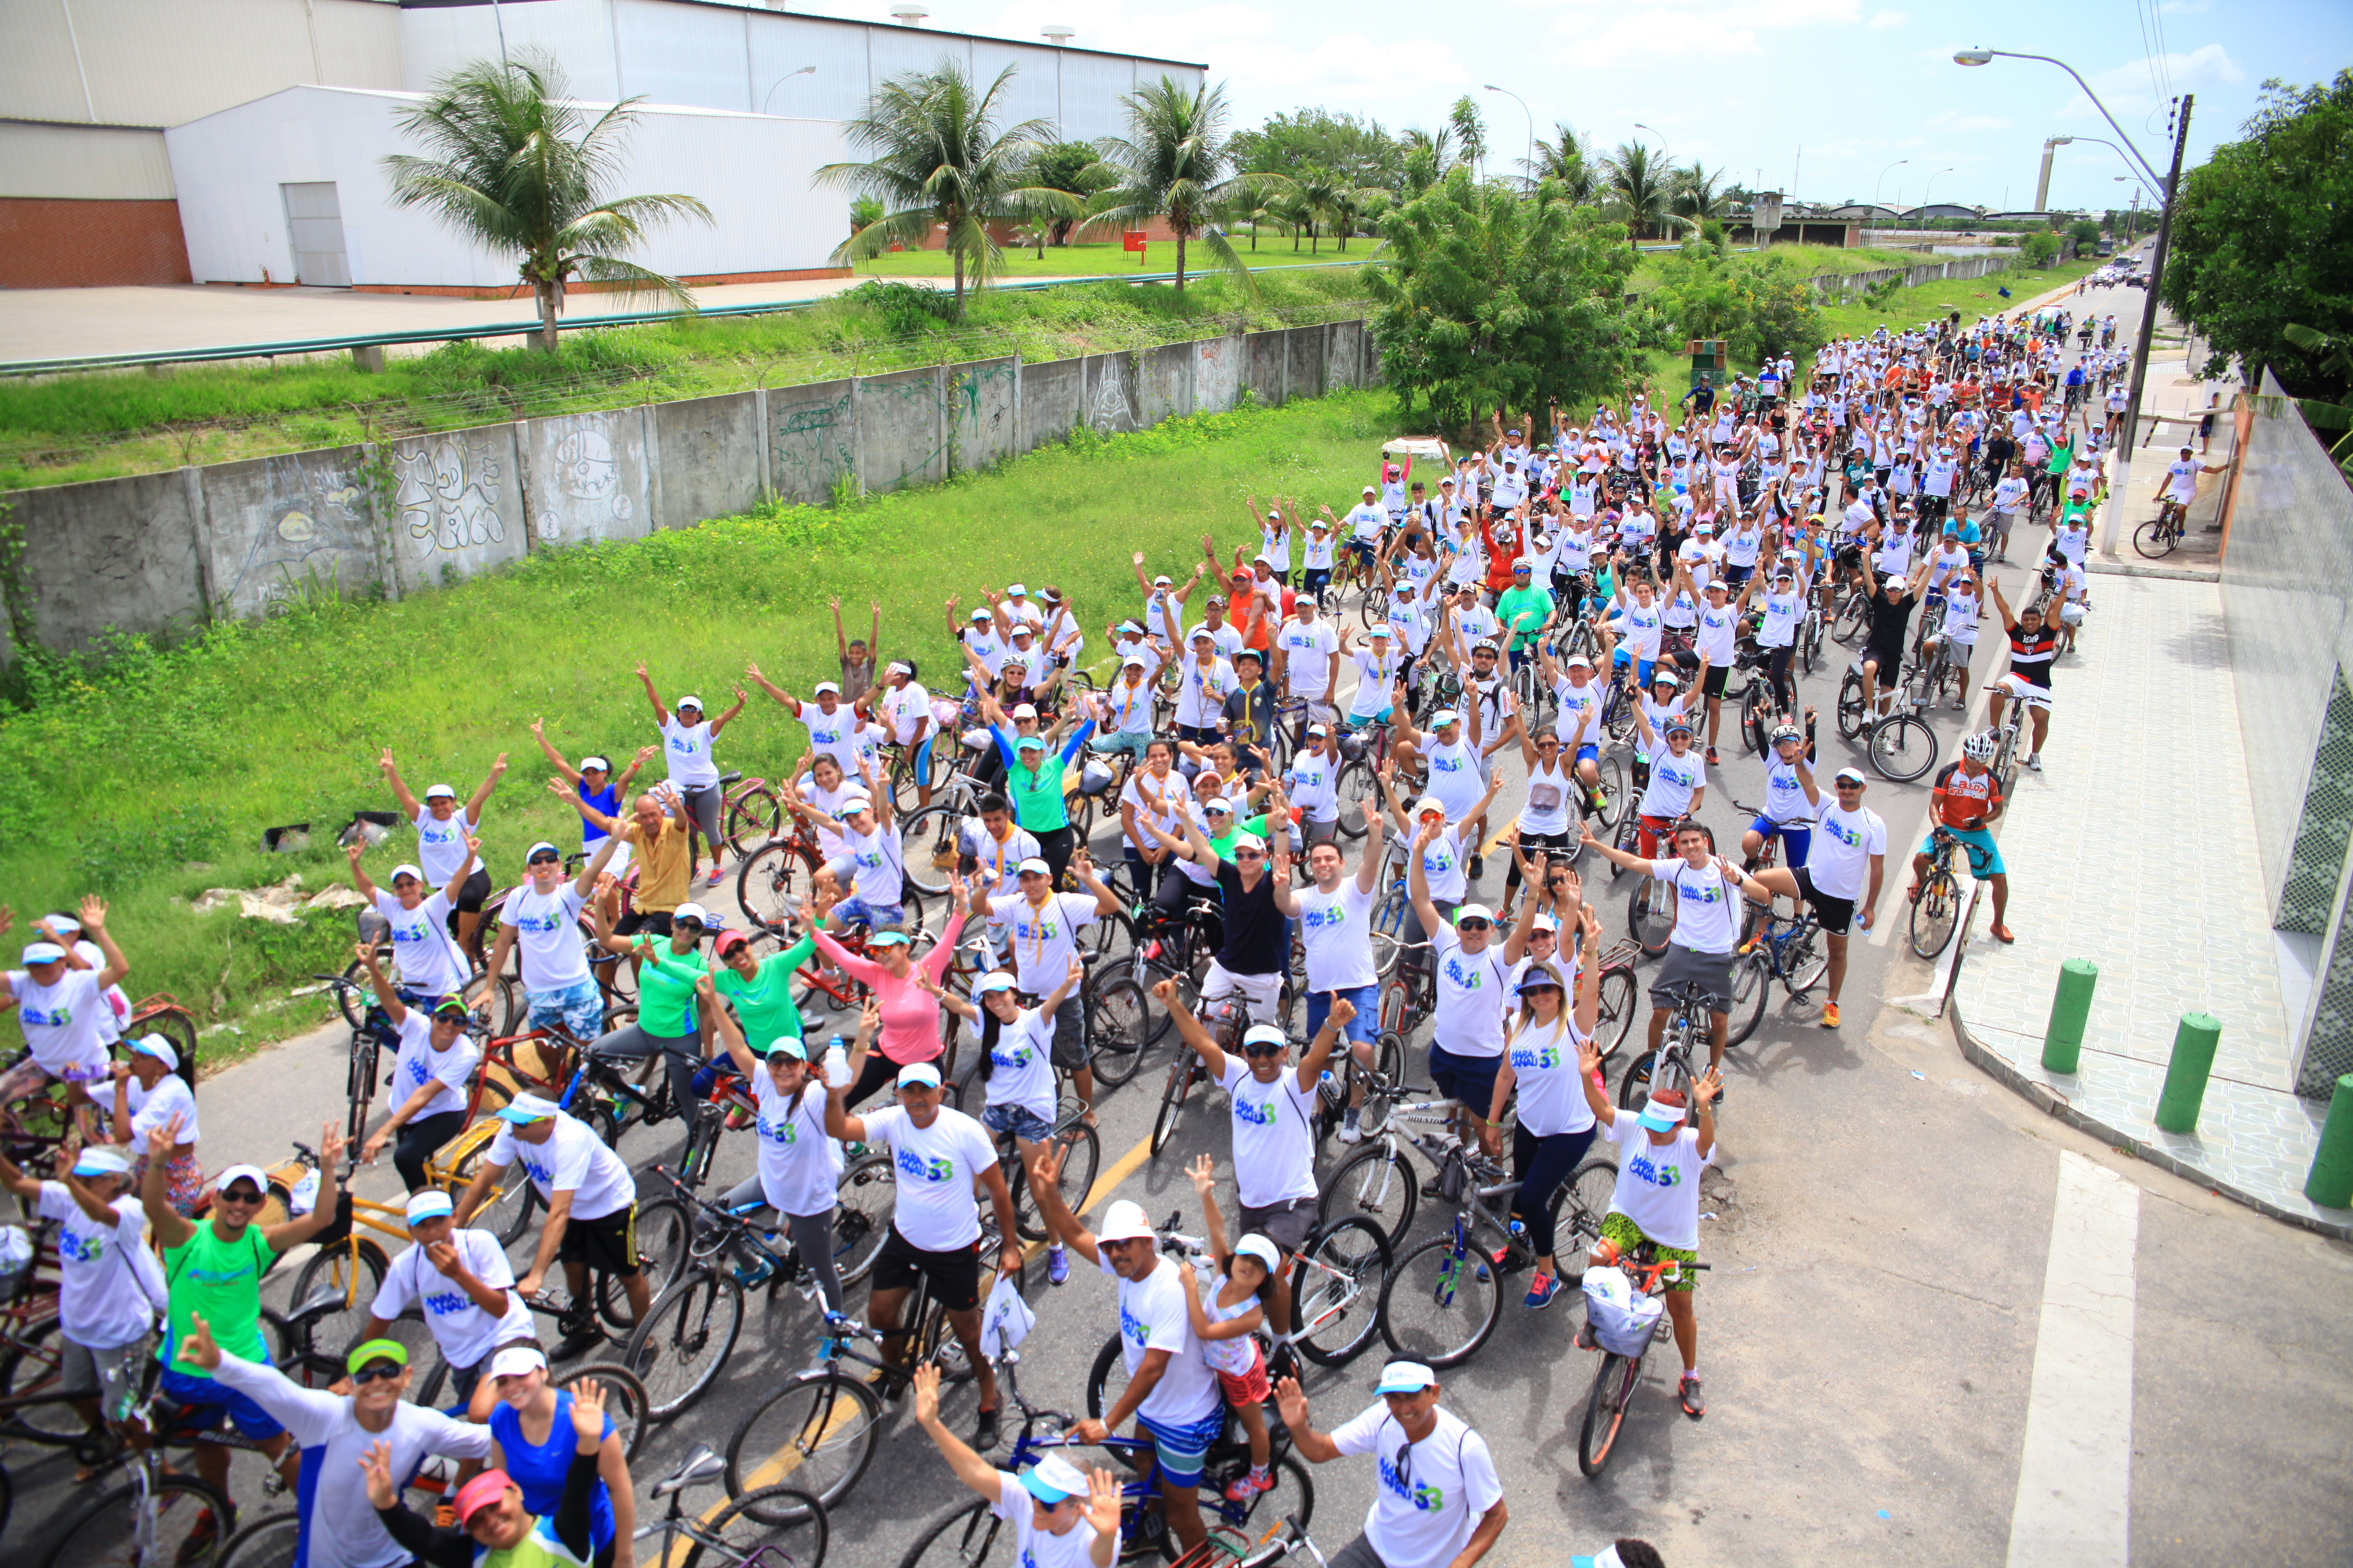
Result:
{"label": "pale paved sidewalk with green bollards beside the right-hand wall", "polygon": [[[2353,1211],[2304,1197],[2327,1107],[2289,1091],[2221,588],[2104,576],[2092,604],[2052,679],[2047,771],[2019,773],[2000,825],[2019,940],[1988,936],[1993,900],[1981,898],[1958,959],[1953,1032],[1969,1060],[2064,1121],[2273,1218],[2353,1239]],[[2042,1070],[2064,959],[2099,964],[2078,1074]],[[2153,1117],[2174,1025],[2191,1011],[2221,1020],[2221,1048],[2198,1131],[2174,1135]]]}

